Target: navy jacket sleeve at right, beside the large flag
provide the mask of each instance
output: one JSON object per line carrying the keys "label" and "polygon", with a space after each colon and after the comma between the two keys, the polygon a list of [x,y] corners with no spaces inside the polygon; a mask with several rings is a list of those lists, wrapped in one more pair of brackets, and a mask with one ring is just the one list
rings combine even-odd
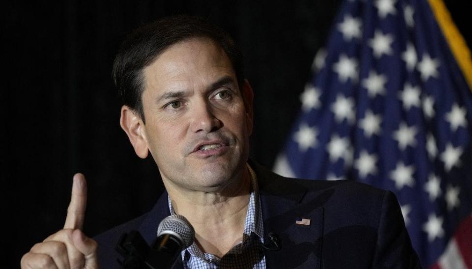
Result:
{"label": "navy jacket sleeve at right, beside the large flag", "polygon": [[421,268],[395,194],[385,191],[372,268]]}

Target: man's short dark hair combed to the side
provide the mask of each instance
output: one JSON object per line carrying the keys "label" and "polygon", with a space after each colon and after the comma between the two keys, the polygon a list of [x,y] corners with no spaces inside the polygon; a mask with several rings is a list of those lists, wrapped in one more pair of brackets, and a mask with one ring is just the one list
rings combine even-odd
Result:
{"label": "man's short dark hair combed to the side", "polygon": [[228,55],[239,88],[244,80],[242,54],[231,36],[202,18],[178,15],[146,24],[131,32],[121,44],[113,64],[113,79],[124,105],[143,121],[142,95],[145,67],[170,46],[191,38],[208,38]]}

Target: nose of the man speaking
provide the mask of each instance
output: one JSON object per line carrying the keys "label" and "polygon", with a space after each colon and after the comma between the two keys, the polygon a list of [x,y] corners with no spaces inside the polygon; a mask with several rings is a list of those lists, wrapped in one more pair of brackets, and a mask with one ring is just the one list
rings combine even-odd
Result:
{"label": "nose of the man speaking", "polygon": [[191,118],[191,128],[195,133],[210,133],[223,126],[223,122],[215,115],[214,108],[206,102],[196,104],[192,111]]}

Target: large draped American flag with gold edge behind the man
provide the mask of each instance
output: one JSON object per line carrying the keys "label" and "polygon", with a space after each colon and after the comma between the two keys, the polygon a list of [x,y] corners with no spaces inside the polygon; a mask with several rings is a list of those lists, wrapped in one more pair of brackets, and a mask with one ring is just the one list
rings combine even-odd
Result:
{"label": "large draped American flag with gold edge behind the man", "polygon": [[472,269],[472,65],[447,15],[440,0],[345,1],[274,170],[390,189],[424,268]]}

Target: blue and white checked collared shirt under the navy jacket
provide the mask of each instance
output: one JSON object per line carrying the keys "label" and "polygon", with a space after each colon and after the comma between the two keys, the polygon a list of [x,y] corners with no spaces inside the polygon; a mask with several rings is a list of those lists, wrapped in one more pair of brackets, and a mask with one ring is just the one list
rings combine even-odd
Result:
{"label": "blue and white checked collared shirt under the navy jacket", "polygon": [[[247,206],[242,241],[233,246],[221,258],[211,253],[203,253],[197,244],[193,242],[192,245],[182,250],[183,268],[266,268],[266,257],[261,247],[261,243],[264,243],[264,230],[257,178],[249,164],[247,164],[247,168],[251,174],[252,191]],[[168,197],[168,201],[169,210],[171,214],[174,214],[170,197]]]}

